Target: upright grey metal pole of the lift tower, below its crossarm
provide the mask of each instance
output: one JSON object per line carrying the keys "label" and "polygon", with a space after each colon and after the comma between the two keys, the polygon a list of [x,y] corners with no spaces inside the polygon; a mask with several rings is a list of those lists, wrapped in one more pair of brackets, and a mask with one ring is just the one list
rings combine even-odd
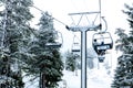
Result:
{"label": "upright grey metal pole of the lift tower, below its crossarm", "polygon": [[81,31],[81,88],[86,88],[86,31]]}

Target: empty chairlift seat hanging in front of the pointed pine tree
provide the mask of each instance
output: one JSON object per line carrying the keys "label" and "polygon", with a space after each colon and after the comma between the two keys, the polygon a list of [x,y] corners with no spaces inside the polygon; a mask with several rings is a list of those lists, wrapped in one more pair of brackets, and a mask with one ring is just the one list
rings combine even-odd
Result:
{"label": "empty chairlift seat hanging in front of the pointed pine tree", "polygon": [[47,43],[45,46],[52,47],[52,48],[59,48],[62,46],[63,37],[62,37],[61,32],[55,31],[54,34],[55,34],[54,36],[55,41]]}

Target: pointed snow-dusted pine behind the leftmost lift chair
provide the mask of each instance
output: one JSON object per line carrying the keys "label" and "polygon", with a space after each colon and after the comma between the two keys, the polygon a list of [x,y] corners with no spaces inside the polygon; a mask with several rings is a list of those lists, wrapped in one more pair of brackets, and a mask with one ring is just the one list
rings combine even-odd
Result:
{"label": "pointed snow-dusted pine behind the leftmost lift chair", "polygon": [[[42,13],[39,30],[35,32],[33,43],[30,45],[29,53],[34,54],[34,62],[30,63],[29,73],[40,75],[40,88],[55,88],[61,80],[63,62],[59,47],[50,47],[48,43],[55,43],[55,30],[53,19],[48,12]],[[33,69],[34,68],[34,69]],[[42,84],[43,82],[43,84]]]}

